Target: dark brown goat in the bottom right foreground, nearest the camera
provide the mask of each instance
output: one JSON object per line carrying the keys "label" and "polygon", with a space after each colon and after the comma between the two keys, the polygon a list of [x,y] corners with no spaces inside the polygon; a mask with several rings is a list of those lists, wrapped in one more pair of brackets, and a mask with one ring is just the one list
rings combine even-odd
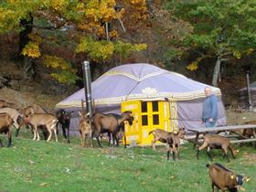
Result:
{"label": "dark brown goat in the bottom right foreground, nearest the camera", "polygon": [[214,187],[225,192],[237,192],[238,190],[245,190],[242,186],[244,182],[248,182],[251,177],[236,175],[229,169],[220,164],[207,165],[209,177],[211,179],[211,188],[214,192]]}

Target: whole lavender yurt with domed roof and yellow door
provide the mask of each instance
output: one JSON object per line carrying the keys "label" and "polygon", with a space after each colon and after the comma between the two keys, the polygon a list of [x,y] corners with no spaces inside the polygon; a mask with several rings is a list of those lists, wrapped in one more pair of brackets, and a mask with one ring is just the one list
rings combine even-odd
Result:
{"label": "whole lavender yurt with domed roof and yellow door", "polygon": [[[132,111],[133,125],[125,127],[128,144],[151,144],[149,132],[156,128],[175,132],[179,127],[202,127],[202,105],[207,84],[146,63],[112,68],[91,83],[95,112]],[[211,87],[211,86],[208,86]],[[219,88],[211,87],[219,99],[217,126],[226,125]],[[56,109],[78,111],[85,100],[84,89],[59,101]],[[70,132],[78,134],[79,117],[74,113]]]}

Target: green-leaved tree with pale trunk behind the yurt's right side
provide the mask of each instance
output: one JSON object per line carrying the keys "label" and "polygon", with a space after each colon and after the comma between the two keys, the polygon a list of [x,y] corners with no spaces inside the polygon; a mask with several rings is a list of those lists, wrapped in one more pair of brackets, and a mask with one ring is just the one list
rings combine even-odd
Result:
{"label": "green-leaved tree with pale trunk behind the yurt's right side", "polygon": [[218,85],[222,61],[240,59],[256,49],[254,0],[173,0],[167,9],[193,27],[192,33],[177,42],[197,53],[197,59],[187,69],[196,70],[202,59],[216,59],[214,86]]}

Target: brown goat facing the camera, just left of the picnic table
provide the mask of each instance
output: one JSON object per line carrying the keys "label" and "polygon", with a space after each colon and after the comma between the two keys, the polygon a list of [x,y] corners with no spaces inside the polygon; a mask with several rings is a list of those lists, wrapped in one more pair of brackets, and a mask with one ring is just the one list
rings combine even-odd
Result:
{"label": "brown goat facing the camera, just left of the picnic table", "polygon": [[[169,133],[168,137],[166,139],[166,143],[168,144],[168,149],[167,149],[167,160],[169,160],[170,157],[170,152],[173,155],[173,160],[176,160],[176,155],[177,158],[179,158],[179,145],[180,145],[180,138],[184,139],[185,135],[185,128],[180,128],[178,130],[178,133]],[[176,154],[176,155],[175,155]]]}

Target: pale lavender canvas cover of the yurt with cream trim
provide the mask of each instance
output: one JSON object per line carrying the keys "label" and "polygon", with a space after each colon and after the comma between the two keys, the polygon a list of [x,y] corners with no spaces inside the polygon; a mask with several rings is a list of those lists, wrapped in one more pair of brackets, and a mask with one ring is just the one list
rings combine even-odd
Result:
{"label": "pale lavender canvas cover of the yurt with cream trim", "polygon": [[[204,89],[208,85],[176,72],[156,66],[137,63],[126,64],[108,70],[91,83],[91,97],[97,112],[120,113],[123,101],[176,101],[179,127],[202,127],[202,102]],[[210,86],[209,86],[210,87]],[[225,109],[219,88],[211,87],[219,98],[219,119],[217,125],[226,125]],[[85,100],[84,89],[60,101],[56,109],[80,109]],[[77,120],[74,120],[77,119]],[[73,129],[78,129],[78,117],[71,121]]]}

